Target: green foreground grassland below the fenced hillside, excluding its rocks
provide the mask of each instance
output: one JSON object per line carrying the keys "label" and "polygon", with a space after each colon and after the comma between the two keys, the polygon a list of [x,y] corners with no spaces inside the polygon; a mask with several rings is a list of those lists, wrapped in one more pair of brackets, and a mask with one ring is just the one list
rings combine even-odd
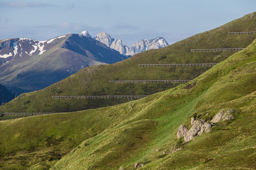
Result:
{"label": "green foreground grassland below the fenced hillside, excluding its rocks", "polygon": [[[133,101],[133,108],[124,103],[0,121],[0,167],[255,169],[255,70],[256,41],[192,82]],[[210,121],[230,108],[234,119],[189,142],[176,139],[191,117]]]}

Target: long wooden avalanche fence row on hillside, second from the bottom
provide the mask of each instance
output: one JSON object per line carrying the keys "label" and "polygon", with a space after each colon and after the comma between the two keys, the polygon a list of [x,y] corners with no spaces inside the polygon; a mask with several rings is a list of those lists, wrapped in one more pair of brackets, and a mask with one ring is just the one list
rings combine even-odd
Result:
{"label": "long wooden avalanche fence row on hillside, second from the bottom", "polygon": [[52,96],[52,99],[141,99],[147,95],[139,96]]}

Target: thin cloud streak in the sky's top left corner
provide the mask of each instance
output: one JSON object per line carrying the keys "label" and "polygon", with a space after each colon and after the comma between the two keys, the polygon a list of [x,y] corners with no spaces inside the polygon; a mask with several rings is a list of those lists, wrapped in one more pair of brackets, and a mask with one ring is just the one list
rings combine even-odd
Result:
{"label": "thin cloud streak in the sky's top left corner", "polygon": [[55,6],[41,2],[0,2],[0,7],[27,8],[27,7],[49,7]]}

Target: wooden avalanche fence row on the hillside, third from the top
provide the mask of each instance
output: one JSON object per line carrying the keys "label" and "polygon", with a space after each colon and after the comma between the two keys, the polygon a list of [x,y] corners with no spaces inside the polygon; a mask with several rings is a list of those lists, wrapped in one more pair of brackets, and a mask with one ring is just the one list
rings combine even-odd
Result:
{"label": "wooden avalanche fence row on the hillside, third from the top", "polygon": [[187,63],[187,64],[143,64],[139,67],[213,67],[217,63]]}

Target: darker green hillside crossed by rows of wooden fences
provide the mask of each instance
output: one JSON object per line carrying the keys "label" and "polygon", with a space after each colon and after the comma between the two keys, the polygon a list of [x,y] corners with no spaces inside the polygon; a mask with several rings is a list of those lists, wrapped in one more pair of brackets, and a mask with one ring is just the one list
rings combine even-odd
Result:
{"label": "darker green hillside crossed by rows of wooden fences", "polygon": [[[145,63],[220,63],[235,52],[191,53],[191,49],[245,48],[254,35],[229,32],[256,30],[256,12],[221,27],[189,37],[166,48],[149,50],[112,65],[98,65],[45,88],[23,94],[0,107],[3,112],[72,112],[128,101],[113,99],[52,100],[64,95],[151,95],[177,84],[110,84],[110,80],[194,79],[209,67],[139,67]],[[29,101],[29,102],[28,102]]]}

